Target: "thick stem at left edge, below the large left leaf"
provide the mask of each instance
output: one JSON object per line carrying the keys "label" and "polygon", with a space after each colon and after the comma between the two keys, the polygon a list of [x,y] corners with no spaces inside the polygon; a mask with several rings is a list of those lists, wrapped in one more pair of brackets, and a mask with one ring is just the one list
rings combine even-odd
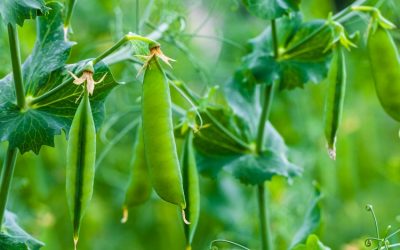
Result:
{"label": "thick stem at left edge, below the large left leaf", "polygon": [[10,184],[12,176],[14,174],[15,160],[17,158],[17,149],[7,150],[6,159],[4,160],[3,169],[1,170],[0,179],[0,224],[3,221],[4,213],[7,205],[8,193],[10,190]]}

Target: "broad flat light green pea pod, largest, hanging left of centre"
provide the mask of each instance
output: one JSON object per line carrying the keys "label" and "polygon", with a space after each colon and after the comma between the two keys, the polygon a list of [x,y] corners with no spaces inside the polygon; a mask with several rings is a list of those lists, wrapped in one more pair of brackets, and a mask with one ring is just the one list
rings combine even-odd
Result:
{"label": "broad flat light green pea pod, largest, hanging left of centre", "polygon": [[153,188],[163,200],[185,209],[170,90],[156,57],[151,59],[144,74],[142,116],[146,161]]}

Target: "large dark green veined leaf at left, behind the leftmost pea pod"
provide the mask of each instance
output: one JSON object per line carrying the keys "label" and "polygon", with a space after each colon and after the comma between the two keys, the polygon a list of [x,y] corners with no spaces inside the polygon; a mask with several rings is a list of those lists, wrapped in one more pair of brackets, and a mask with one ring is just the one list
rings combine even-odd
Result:
{"label": "large dark green veined leaf at left, behind the leftmost pea pod", "polygon": [[[88,62],[65,65],[73,43],[64,40],[61,5],[52,3],[49,7],[52,9],[49,15],[38,18],[37,41],[23,65],[28,102],[69,79],[67,71],[78,72]],[[98,128],[104,117],[104,99],[117,83],[105,64],[98,63],[94,69],[95,80],[107,74],[105,80],[96,85],[91,97]],[[62,130],[68,134],[82,87],[71,82],[25,110],[19,110],[15,104],[11,74],[0,80],[0,93],[0,141],[8,140],[10,147],[19,148],[21,153],[32,150],[38,154],[42,145],[54,146],[54,136]]]}

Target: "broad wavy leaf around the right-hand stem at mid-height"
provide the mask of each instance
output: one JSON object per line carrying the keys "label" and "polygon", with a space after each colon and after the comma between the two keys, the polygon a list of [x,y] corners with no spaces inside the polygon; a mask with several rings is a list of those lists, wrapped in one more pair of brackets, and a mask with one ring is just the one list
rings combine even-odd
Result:
{"label": "broad wavy leaf around the right-hand stem at mid-height", "polygon": [[[254,145],[255,137],[251,136],[248,127],[250,122],[227,110],[213,110],[212,114],[232,134],[249,145]],[[257,156],[251,149],[228,137],[207,115],[202,116],[207,119],[205,124],[210,125],[196,133],[194,139],[197,164],[202,174],[215,178],[225,169],[243,183],[253,185],[270,180],[274,175],[291,178],[300,174],[300,168],[287,160],[286,145],[270,123],[265,125],[266,150],[261,156]]]}

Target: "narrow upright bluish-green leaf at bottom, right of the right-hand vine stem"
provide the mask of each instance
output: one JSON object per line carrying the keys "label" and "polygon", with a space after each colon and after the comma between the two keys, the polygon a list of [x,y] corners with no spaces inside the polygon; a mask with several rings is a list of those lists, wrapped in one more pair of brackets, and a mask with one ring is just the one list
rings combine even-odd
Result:
{"label": "narrow upright bluish-green leaf at bottom, right of the right-hand vine stem", "polygon": [[290,244],[291,245],[290,248],[293,248],[294,246],[302,242],[305,242],[307,236],[314,233],[315,230],[319,227],[321,223],[321,207],[320,207],[321,199],[322,199],[321,191],[319,190],[319,187],[316,185],[315,196],[311,201],[306,216],[304,217],[303,224],[297,230],[295,236],[293,237],[293,240]]}

